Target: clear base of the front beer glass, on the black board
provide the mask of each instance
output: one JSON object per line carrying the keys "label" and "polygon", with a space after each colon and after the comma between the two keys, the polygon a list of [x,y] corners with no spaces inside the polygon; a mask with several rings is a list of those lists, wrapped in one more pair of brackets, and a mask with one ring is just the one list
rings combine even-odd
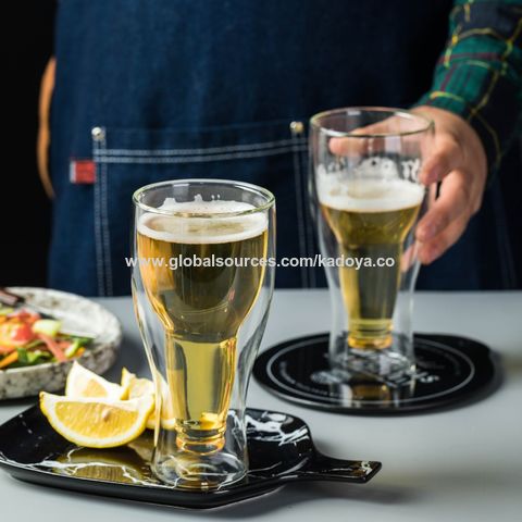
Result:
{"label": "clear base of the front beer glass, on the black board", "polygon": [[179,450],[167,456],[154,455],[151,469],[165,484],[199,490],[238,482],[247,473],[245,463],[226,451],[202,455]]}

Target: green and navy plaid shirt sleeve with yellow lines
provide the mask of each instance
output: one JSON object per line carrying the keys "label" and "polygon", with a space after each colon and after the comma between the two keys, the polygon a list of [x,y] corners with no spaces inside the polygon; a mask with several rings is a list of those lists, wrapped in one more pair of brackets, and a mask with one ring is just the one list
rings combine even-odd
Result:
{"label": "green and navy plaid shirt sleeve with yellow lines", "polygon": [[456,0],[432,89],[418,104],[467,120],[495,172],[522,124],[522,0]]}

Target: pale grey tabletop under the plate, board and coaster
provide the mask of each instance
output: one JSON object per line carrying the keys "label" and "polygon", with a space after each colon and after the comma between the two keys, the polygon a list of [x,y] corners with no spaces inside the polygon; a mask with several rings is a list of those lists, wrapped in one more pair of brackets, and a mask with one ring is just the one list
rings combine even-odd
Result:
{"label": "pale grey tabletop under the plate, board and coaster", "polygon": [[[115,366],[147,373],[129,298],[100,299],[124,326]],[[325,290],[278,290],[262,349],[324,332]],[[338,458],[380,460],[365,485],[307,483],[233,507],[183,511],[15,481],[0,473],[2,522],[515,522],[522,520],[522,293],[420,293],[415,330],[480,339],[502,357],[505,382],[485,400],[445,412],[399,418],[322,413],[284,402],[251,381],[248,405],[289,411],[307,421],[316,446]],[[0,422],[34,400],[0,402]]]}

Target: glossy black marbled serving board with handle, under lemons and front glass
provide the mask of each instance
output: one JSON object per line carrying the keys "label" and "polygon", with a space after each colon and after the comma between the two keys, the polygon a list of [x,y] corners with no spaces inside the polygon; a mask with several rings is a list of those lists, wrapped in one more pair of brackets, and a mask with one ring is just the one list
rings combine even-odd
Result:
{"label": "glossy black marbled serving board with handle, under lemons and front glass", "polygon": [[363,484],[381,469],[381,462],[320,453],[304,422],[287,413],[249,409],[247,421],[250,471],[241,482],[217,490],[190,492],[160,483],[149,467],[150,432],[120,448],[78,448],[55,433],[36,406],[0,426],[0,467],[35,484],[192,509],[234,504],[290,482]]}

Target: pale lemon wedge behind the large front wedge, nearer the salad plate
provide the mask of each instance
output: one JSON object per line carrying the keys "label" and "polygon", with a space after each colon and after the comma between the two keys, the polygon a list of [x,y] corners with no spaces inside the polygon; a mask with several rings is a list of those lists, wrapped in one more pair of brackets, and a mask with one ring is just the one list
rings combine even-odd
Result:
{"label": "pale lemon wedge behind the large front wedge, nearer the salad plate", "polygon": [[65,384],[66,397],[121,400],[125,395],[124,387],[105,381],[74,361]]}

